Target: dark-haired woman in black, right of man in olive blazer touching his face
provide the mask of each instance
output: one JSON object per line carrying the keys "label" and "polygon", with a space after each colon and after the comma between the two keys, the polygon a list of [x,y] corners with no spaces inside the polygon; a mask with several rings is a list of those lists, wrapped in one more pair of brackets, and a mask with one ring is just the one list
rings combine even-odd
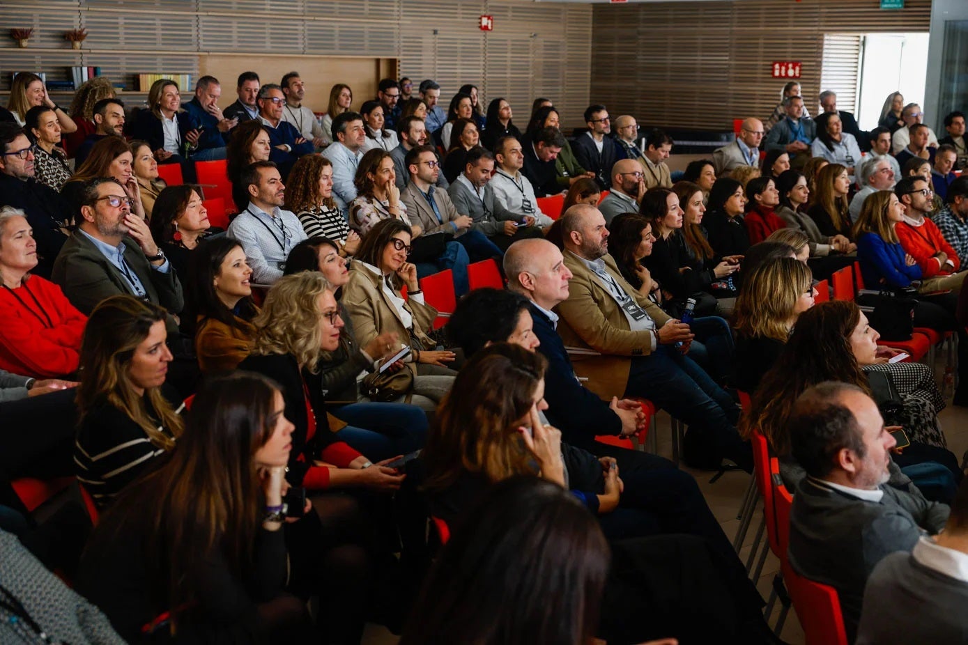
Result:
{"label": "dark-haired woman in black, right of man in olive blazer touching his face", "polygon": [[208,222],[197,186],[169,186],[158,195],[151,218],[151,237],[179,276],[188,276],[189,259],[206,236],[221,233]]}

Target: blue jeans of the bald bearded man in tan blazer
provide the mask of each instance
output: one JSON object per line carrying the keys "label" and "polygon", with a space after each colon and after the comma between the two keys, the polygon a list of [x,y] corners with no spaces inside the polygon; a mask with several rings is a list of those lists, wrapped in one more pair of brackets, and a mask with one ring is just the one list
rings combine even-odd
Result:
{"label": "blue jeans of the bald bearded man in tan blazer", "polygon": [[687,463],[715,468],[728,457],[752,472],[753,454],[736,430],[740,410],[709,374],[677,349],[660,345],[632,359],[625,396],[643,396],[689,426]]}

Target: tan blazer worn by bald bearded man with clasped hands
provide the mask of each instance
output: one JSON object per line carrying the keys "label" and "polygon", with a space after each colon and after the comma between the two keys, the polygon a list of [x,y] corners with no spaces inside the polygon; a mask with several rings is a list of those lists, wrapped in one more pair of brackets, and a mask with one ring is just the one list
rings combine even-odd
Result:
{"label": "tan blazer worn by bald bearded man with clasped hands", "polygon": [[[662,309],[639,294],[621,277],[611,255],[605,255],[605,269],[620,287],[649,313],[656,327],[670,319]],[[592,349],[601,356],[572,356],[575,372],[588,377],[588,388],[604,399],[621,397],[628,383],[633,356],[651,353],[651,332],[633,332],[628,319],[609,291],[573,253],[564,251],[564,266],[572,273],[568,300],[556,309],[560,315],[558,332],[564,344]]]}

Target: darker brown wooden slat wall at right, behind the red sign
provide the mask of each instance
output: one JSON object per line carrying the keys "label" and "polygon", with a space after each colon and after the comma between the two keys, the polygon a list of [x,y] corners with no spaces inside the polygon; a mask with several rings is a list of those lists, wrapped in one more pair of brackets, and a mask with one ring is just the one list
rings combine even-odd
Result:
{"label": "darker brown wooden slat wall at right, behind the red sign", "polygon": [[931,0],[904,5],[894,11],[880,10],[879,0],[595,5],[590,97],[640,124],[731,131],[734,118],[770,115],[784,83],[771,78],[770,64],[794,60],[803,63],[802,92],[814,113],[823,35],[928,31]]}

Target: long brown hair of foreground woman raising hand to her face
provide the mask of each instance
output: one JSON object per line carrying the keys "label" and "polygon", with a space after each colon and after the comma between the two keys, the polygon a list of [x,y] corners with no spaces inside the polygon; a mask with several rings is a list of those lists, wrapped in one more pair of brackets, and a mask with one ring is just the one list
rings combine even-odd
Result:
{"label": "long brown hair of foreground woman raising hand to her face", "polygon": [[536,474],[518,425],[534,402],[548,361],[499,342],[474,354],[440,401],[423,456],[428,490],[444,490],[464,473],[494,483]]}

